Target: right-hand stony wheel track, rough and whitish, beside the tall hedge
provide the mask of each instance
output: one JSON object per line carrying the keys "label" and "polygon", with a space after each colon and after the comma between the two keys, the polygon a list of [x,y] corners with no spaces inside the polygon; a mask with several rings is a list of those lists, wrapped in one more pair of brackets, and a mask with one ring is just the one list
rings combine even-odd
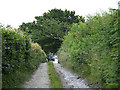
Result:
{"label": "right-hand stony wheel track, rough and whitish, beside the tall hedge", "polygon": [[63,88],[89,88],[85,80],[78,79],[77,74],[71,73],[58,63],[54,63],[54,66],[62,78],[61,81],[64,83]]}

